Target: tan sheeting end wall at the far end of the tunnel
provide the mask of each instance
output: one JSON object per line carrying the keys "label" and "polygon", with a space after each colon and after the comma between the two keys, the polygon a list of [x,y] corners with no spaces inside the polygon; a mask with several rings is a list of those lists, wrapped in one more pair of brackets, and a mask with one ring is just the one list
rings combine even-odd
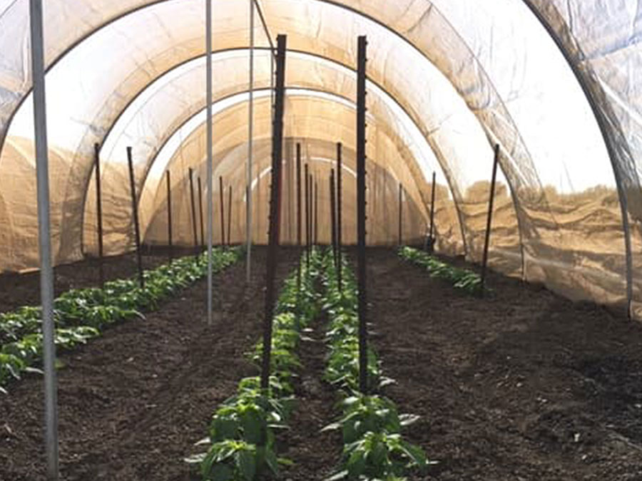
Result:
{"label": "tan sheeting end wall at the far end of the tunnel", "polygon": [[[296,144],[302,146],[302,162],[309,165],[310,173],[314,177],[318,189],[315,197],[317,206],[317,239],[322,244],[330,244],[330,170],[336,169],[334,143],[311,138],[286,138],[283,160],[283,190],[281,211],[281,241],[285,244],[297,243],[297,202],[296,202],[296,177],[295,177],[295,149]],[[228,195],[232,187],[232,218],[229,224],[232,229],[230,240],[233,243],[245,239],[245,174],[243,165],[238,158],[243,157],[246,145],[238,145],[225,152],[219,152],[215,157],[217,165],[239,165],[237,169],[230,170],[225,176],[223,185],[223,214],[225,229],[228,229]],[[267,242],[267,211],[269,206],[268,186],[271,182],[272,145],[269,139],[258,140],[255,143],[257,175],[253,181],[253,202],[255,206],[255,228],[253,236],[255,242]],[[343,150],[344,168],[342,169],[342,242],[355,244],[356,242],[356,172],[354,150]],[[180,175],[185,172],[181,169],[172,169],[173,174]],[[398,242],[399,208],[397,199],[397,180],[390,175],[389,170],[367,162],[368,171],[368,242],[370,244],[394,245]],[[195,167],[195,176],[203,177],[205,165],[201,163]],[[336,170],[335,170],[336,172]],[[305,188],[302,188],[302,196]],[[220,190],[218,180],[215,182],[215,210],[213,222],[215,226],[215,242],[222,242],[220,229]],[[302,202],[305,199],[302,197]],[[146,231],[146,243],[166,245],[168,239],[167,196],[165,190],[160,188],[156,198],[156,210]],[[172,212],[178,214],[173,217],[173,235],[178,236],[178,243],[193,245],[193,217],[191,214],[191,196],[188,177],[179,177],[173,182],[172,187]],[[197,212],[197,227],[200,224],[200,214]],[[305,214],[302,216],[305,224]],[[198,230],[198,229],[197,229]],[[425,218],[417,205],[409,198],[404,198],[402,207],[402,239],[404,242],[420,243],[425,234]],[[302,228],[302,242],[305,242],[305,227]],[[197,243],[200,239],[197,236]]]}

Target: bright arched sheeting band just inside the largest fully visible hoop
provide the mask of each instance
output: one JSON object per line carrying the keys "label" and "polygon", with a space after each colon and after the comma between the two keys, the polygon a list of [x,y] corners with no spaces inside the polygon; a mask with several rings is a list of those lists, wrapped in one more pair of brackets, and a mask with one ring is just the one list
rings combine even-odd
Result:
{"label": "bright arched sheeting band just inside the largest fully visible hoop", "polygon": [[[258,88],[265,88],[269,85],[270,59],[267,51],[256,52],[255,79]],[[229,51],[218,53],[214,56],[214,86],[215,98],[226,98],[227,95],[237,90],[245,90],[247,87],[243,79],[235,76],[226,76],[226,71],[242,70],[248,62],[247,51]],[[327,90],[341,94],[345,98],[355,96],[355,76],[352,71],[336,63],[320,61],[313,56],[302,53],[290,53],[288,56],[288,69],[286,83],[289,88],[312,88],[318,91]],[[314,75],[311,73],[315,72]],[[190,61],[184,66],[168,73],[158,79],[142,95],[140,95],[118,120],[118,123],[111,130],[101,150],[103,177],[103,222],[106,224],[106,232],[113,230],[111,222],[111,210],[115,209],[115,218],[122,218],[122,213],[114,198],[123,198],[123,192],[128,192],[128,185],[122,182],[108,180],[110,171],[113,168],[123,170],[122,166],[113,167],[112,163],[122,164],[124,152],[128,145],[133,145],[134,158],[136,160],[136,173],[138,189],[143,185],[148,175],[158,177],[163,172],[162,168],[156,165],[151,170],[151,162],[156,160],[158,149],[170,142],[170,137],[175,135],[180,126],[193,117],[197,110],[205,107],[205,66],[203,59]],[[368,83],[370,95],[368,99],[369,113],[377,120],[379,125],[387,128],[389,135],[396,138],[399,150],[408,150],[406,159],[412,172],[409,182],[412,192],[417,192],[419,197],[415,199],[417,205],[422,205],[424,212],[427,212],[425,205],[428,198],[421,197],[424,189],[417,190],[417,182],[423,186],[426,180],[424,177],[432,177],[432,172],[437,171],[437,180],[442,184],[445,182],[437,160],[432,150],[417,125],[408,115],[394,103],[392,98],[380,88]],[[261,95],[266,95],[263,91]],[[225,102],[218,103],[216,108],[224,108]],[[205,113],[200,110],[201,121]],[[387,127],[392,126],[392,127]],[[189,130],[187,128],[186,130]],[[172,140],[173,143],[180,138]],[[161,165],[163,164],[161,159]],[[415,165],[417,164],[417,165]],[[151,174],[150,174],[151,172]],[[153,182],[152,182],[153,183]],[[409,187],[410,188],[410,187]],[[143,192],[143,198],[148,192]],[[84,239],[85,252],[96,251],[96,193],[95,183],[91,180],[88,195],[86,197]],[[116,229],[117,231],[120,229]],[[459,237],[459,236],[458,236]],[[120,244],[106,243],[107,252],[118,252]]]}

